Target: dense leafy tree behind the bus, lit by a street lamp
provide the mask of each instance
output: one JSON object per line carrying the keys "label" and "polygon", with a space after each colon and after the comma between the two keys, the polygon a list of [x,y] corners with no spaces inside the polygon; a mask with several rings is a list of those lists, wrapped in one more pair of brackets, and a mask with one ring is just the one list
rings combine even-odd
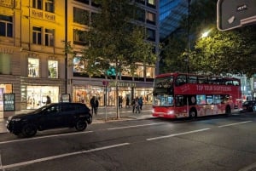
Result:
{"label": "dense leafy tree behind the bus, lit by a street lamp", "polygon": [[[189,19],[189,71],[211,74],[255,73],[252,64],[256,62],[256,26],[246,26],[233,31],[218,31],[216,26],[217,1],[199,0],[191,4]],[[204,10],[201,10],[204,9]],[[162,53],[164,66],[172,71],[185,71],[183,52],[188,52],[185,43],[188,34],[188,15],[183,16],[178,31],[172,33]],[[203,31],[210,31],[208,37],[201,37]],[[181,34],[181,32],[183,34]],[[170,41],[171,40],[171,41]],[[178,70],[179,69],[179,70]]]}

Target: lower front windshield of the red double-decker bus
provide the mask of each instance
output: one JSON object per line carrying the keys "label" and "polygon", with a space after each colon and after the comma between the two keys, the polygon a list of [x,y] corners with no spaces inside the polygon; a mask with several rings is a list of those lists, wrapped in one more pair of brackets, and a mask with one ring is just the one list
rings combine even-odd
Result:
{"label": "lower front windshield of the red double-decker bus", "polygon": [[157,94],[154,97],[154,106],[173,106],[173,95]]}

